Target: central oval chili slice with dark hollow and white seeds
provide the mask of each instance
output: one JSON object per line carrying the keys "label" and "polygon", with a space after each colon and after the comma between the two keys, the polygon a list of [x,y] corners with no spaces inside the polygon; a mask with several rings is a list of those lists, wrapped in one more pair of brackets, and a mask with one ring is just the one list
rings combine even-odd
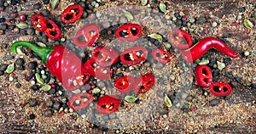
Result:
{"label": "central oval chili slice with dark hollow and white seeds", "polygon": [[120,55],[120,60],[124,64],[136,65],[141,64],[148,57],[148,50],[146,47],[137,46],[126,49]]}

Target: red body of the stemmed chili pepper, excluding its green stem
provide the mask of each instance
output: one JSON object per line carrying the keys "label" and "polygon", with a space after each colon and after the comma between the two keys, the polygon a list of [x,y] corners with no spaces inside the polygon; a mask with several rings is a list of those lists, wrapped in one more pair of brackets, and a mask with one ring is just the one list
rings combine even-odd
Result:
{"label": "red body of the stemmed chili pepper, excluding its green stem", "polygon": [[[73,91],[82,87],[90,79],[90,74],[82,67],[79,57],[63,46],[54,46],[44,64],[52,75],[61,81],[67,91]],[[83,75],[83,84],[73,85],[78,76]]]}

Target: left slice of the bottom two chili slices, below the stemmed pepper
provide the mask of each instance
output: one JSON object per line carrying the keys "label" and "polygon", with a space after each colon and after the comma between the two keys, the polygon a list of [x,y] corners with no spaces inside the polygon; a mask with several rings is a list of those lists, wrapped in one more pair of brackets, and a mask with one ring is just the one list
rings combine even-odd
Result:
{"label": "left slice of the bottom two chili slices, below the stemmed pepper", "polygon": [[86,108],[93,101],[93,96],[88,93],[77,93],[73,94],[71,98],[69,98],[68,106],[71,109],[79,110]]}

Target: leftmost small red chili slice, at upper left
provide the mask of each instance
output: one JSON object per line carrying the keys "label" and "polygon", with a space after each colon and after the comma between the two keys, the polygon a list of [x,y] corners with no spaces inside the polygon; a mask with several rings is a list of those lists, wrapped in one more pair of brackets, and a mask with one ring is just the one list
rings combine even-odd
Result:
{"label": "leftmost small red chili slice, at upper left", "polygon": [[32,15],[32,25],[39,32],[44,32],[47,30],[46,20],[41,14]]}

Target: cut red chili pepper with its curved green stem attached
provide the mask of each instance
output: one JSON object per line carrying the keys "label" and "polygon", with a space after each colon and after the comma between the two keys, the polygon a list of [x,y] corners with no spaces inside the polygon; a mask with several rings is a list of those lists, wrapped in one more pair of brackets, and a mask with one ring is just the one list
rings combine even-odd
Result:
{"label": "cut red chili pepper with its curved green stem attached", "polygon": [[28,47],[44,62],[52,75],[61,81],[67,91],[82,87],[90,79],[90,74],[84,70],[79,57],[63,46],[37,47],[30,42],[15,42],[10,52],[17,53],[17,47]]}

